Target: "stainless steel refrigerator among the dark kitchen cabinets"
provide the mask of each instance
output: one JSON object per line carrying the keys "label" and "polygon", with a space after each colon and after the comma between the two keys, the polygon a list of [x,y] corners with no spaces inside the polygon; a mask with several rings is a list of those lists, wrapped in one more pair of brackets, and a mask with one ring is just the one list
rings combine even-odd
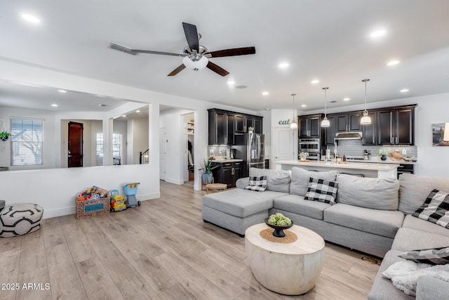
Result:
{"label": "stainless steel refrigerator among the dark kitchen cabinets", "polygon": [[260,133],[243,133],[236,136],[236,158],[243,159],[242,176],[248,177],[250,168],[265,168],[264,135]]}

